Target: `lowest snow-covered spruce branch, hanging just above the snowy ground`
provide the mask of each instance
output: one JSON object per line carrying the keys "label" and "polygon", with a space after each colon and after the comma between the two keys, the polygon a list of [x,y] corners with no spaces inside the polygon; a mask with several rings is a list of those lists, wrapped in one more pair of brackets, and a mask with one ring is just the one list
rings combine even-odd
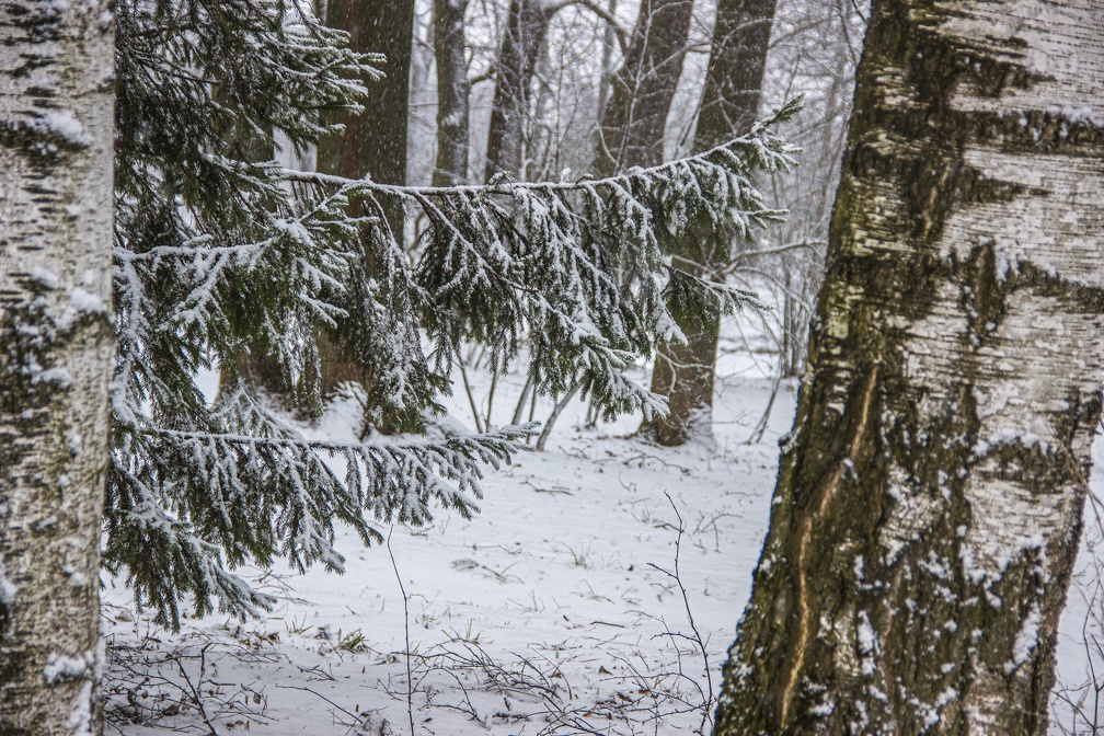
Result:
{"label": "lowest snow-covered spruce branch, hanging just above the snowy ground", "polygon": [[[373,523],[428,523],[434,502],[470,518],[484,468],[526,451],[535,433],[526,425],[436,442],[312,441],[244,387],[227,394],[202,431],[116,428],[105,561],[127,561],[139,602],[172,626],[179,590],[193,591],[198,615],[212,599],[231,614],[269,608],[226,572],[247,559],[269,565],[279,555],[300,570],[321,563],[340,572],[335,521],[372,544],[382,541]],[[343,473],[335,470],[342,463]],[[148,547],[145,564],[132,562],[135,544]]]}

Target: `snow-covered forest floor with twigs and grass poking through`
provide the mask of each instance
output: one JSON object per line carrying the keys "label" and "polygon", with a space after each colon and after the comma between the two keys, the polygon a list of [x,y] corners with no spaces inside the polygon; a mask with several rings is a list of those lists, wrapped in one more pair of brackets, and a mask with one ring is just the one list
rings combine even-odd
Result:
{"label": "snow-covered forest floor with twigs and grass poking through", "polygon": [[[347,534],[341,576],[253,570],[247,577],[280,597],[264,619],[185,620],[170,634],[136,614],[121,584],[108,580],[106,629],[116,644],[108,733],[699,728],[750,593],[777,438],[789,428],[795,399],[794,386],[783,386],[762,441],[746,444],[771,382],[730,346],[715,444],[655,447],[629,438],[633,417],[584,429],[585,407],[573,405],[546,451],[488,474],[474,520],[442,512],[426,529],[382,530],[391,532],[393,561],[388,547],[364,550]],[[485,397],[489,382],[476,377],[477,398]],[[495,398],[496,424],[509,419],[520,392],[517,376],[507,378]],[[646,380],[643,367],[637,378]],[[463,391],[450,408],[471,425]],[[544,404],[537,416],[548,412]],[[355,425],[354,406],[343,402],[304,430],[351,438]],[[1083,577],[1089,586],[1091,576]],[[1062,679],[1080,684],[1091,679],[1082,674],[1089,607],[1083,594],[1071,598]],[[1085,692],[1083,707],[1092,710],[1092,689]],[[1068,711],[1062,722],[1070,722]]]}

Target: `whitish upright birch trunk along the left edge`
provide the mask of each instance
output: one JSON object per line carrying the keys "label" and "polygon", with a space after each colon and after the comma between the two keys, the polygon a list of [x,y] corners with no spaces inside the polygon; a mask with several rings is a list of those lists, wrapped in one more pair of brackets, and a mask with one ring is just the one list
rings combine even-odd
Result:
{"label": "whitish upright birch trunk along the left edge", "polygon": [[0,733],[100,729],[112,3],[0,3]]}

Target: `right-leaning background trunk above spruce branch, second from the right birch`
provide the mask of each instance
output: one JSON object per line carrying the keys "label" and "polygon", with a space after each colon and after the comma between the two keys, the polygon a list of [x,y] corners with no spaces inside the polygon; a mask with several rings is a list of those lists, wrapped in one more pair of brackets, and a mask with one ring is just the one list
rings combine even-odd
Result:
{"label": "right-leaning background trunk above spruce branch, second from the right birch", "polygon": [[594,173],[606,177],[664,160],[664,131],[682,75],[691,0],[644,0],[633,41],[609,81]]}

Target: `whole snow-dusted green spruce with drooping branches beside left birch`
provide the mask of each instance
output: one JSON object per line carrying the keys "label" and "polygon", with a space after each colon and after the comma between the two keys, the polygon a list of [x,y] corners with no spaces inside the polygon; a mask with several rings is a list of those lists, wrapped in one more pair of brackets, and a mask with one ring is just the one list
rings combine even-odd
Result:
{"label": "whole snow-dusted green spruce with drooping branches beside left birch", "polygon": [[[252,154],[283,131],[298,152],[326,121],[371,104],[381,61],[296,0],[117,3],[117,350],[105,565],[170,626],[272,604],[233,574],[285,558],[340,570],[333,524],[421,524],[431,504],[477,511],[482,468],[531,427],[442,441],[309,441],[252,393],[209,405],[197,372],[247,350],[280,366],[289,395],[320,410],[316,329],[364,371],[372,424],[408,427],[449,391],[461,343],[512,359],[526,332],[545,394],[578,390],[606,416],[665,409],[623,369],[680,332],[662,298],[672,274],[710,309],[747,295],[681,273],[665,253],[688,223],[747,235],[784,213],[753,169],[793,166],[771,131],[607,179],[406,188],[296,172]],[[245,150],[240,141],[251,141]],[[420,207],[417,263],[385,213]],[[369,276],[371,275],[371,276]],[[336,471],[343,461],[346,470]]]}

